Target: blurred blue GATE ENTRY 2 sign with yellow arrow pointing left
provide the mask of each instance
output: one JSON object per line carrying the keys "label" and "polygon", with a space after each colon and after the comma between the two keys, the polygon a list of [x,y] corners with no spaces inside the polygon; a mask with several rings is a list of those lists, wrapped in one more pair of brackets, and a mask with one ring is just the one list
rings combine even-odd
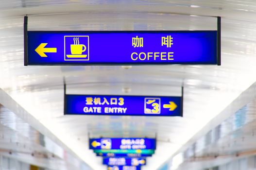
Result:
{"label": "blurred blue GATE ENTRY 2 sign with yellow arrow pointing left", "polygon": [[154,138],[92,138],[90,149],[144,150],[156,148]]}

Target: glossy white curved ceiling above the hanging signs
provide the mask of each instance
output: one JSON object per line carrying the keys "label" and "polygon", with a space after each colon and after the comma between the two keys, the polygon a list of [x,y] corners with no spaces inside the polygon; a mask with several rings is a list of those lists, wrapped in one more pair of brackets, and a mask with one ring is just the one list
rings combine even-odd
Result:
{"label": "glossy white curved ceiling above the hanging signs", "polygon": [[[254,0],[1,0],[0,88],[94,170],[104,167],[88,137],[156,136],[145,166],[156,170],[255,83],[255,13]],[[25,67],[25,15],[29,31],[216,30],[220,16],[222,65]],[[183,117],[64,116],[64,78],[72,94],[179,96],[183,86]]]}

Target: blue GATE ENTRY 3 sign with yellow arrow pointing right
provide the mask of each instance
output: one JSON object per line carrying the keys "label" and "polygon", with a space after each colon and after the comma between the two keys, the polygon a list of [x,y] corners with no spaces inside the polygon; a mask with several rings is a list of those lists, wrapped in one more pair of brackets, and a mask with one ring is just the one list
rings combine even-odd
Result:
{"label": "blue GATE ENTRY 3 sign with yellow arrow pointing right", "polygon": [[182,97],[66,95],[64,114],[182,116]]}

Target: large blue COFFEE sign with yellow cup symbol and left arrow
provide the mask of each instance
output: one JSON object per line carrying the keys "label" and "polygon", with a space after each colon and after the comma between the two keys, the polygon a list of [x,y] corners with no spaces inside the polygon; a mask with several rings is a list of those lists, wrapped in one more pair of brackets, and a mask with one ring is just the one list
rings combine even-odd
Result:
{"label": "large blue COFFEE sign with yellow cup symbol and left arrow", "polygon": [[28,31],[25,65],[217,65],[217,31]]}

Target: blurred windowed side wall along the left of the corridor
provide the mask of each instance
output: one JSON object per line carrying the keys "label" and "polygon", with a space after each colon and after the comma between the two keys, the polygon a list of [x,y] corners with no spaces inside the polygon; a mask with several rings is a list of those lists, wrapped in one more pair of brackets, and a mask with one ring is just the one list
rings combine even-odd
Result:
{"label": "blurred windowed side wall along the left of the corridor", "polygon": [[[3,90],[0,90],[0,102],[6,105],[6,107],[0,105],[1,169],[12,169],[12,166],[14,169],[19,169],[16,163],[10,161],[6,163],[2,157],[46,170],[89,169],[67,146]],[[45,135],[36,129],[40,129]],[[5,163],[7,166],[4,166]]]}

